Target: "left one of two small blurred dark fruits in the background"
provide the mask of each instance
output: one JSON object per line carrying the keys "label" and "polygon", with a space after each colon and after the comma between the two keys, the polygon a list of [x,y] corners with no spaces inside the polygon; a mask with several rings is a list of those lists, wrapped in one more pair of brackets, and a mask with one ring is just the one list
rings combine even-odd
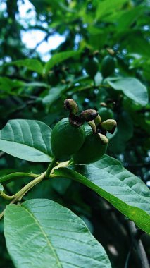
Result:
{"label": "left one of two small blurred dark fruits in the background", "polygon": [[88,57],[84,62],[85,71],[91,78],[94,78],[99,71],[99,61],[95,57]]}

